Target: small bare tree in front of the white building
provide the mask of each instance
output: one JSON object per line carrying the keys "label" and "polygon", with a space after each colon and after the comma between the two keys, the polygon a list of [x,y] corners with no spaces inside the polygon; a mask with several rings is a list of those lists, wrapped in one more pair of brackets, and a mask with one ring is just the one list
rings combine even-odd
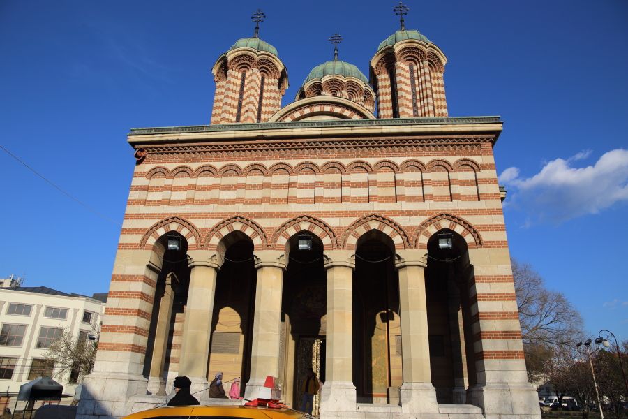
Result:
{"label": "small bare tree in front of the white building", "polygon": [[[88,339],[89,335],[94,340]],[[70,381],[80,382],[91,373],[98,350],[98,330],[92,325],[92,333],[73,337],[72,332],[64,329],[61,336],[52,342],[45,354],[45,359],[54,362],[54,376],[61,378],[70,373]]]}

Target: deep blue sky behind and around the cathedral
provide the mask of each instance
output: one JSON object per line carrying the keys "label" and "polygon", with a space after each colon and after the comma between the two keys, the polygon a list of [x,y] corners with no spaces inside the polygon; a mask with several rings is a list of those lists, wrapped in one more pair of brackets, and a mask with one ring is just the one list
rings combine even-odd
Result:
{"label": "deep blue sky behind and around the cathedral", "polygon": [[[368,75],[398,27],[393,1],[0,2],[0,276],[107,291],[133,152],[129,128],[208,124],[210,71],[250,15],[279,51],[294,98],[340,57]],[[580,309],[591,332],[628,339],[628,3],[408,1],[406,26],[449,59],[449,115],[501,115],[513,256]]]}

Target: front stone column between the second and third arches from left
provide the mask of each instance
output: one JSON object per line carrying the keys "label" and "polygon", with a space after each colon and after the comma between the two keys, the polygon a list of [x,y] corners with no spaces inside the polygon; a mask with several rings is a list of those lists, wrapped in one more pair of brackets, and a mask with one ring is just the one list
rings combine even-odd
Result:
{"label": "front stone column between the second and third arches from left", "polygon": [[251,378],[245,399],[256,399],[267,376],[279,376],[281,293],[283,291],[283,251],[255,252],[257,288],[251,347]]}

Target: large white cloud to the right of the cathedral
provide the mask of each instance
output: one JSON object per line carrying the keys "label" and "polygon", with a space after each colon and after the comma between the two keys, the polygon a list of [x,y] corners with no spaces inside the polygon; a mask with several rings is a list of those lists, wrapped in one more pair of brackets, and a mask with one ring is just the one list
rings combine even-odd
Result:
{"label": "large white cloud to the right of the cathedral", "polygon": [[534,221],[560,222],[628,202],[628,149],[611,150],[592,166],[571,166],[589,154],[549,161],[527,178],[518,176],[518,168],[504,170],[500,182],[514,189],[510,207],[528,212]]}

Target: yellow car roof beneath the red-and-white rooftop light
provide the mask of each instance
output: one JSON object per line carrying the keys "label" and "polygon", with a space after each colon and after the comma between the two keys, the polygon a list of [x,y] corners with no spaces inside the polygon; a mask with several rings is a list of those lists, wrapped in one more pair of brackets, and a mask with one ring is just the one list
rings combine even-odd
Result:
{"label": "yellow car roof beneath the red-and-white rooftop light", "polygon": [[167,418],[249,418],[249,419],[306,419],[311,416],[291,409],[269,409],[248,406],[173,406],[159,407],[124,416],[123,419]]}

